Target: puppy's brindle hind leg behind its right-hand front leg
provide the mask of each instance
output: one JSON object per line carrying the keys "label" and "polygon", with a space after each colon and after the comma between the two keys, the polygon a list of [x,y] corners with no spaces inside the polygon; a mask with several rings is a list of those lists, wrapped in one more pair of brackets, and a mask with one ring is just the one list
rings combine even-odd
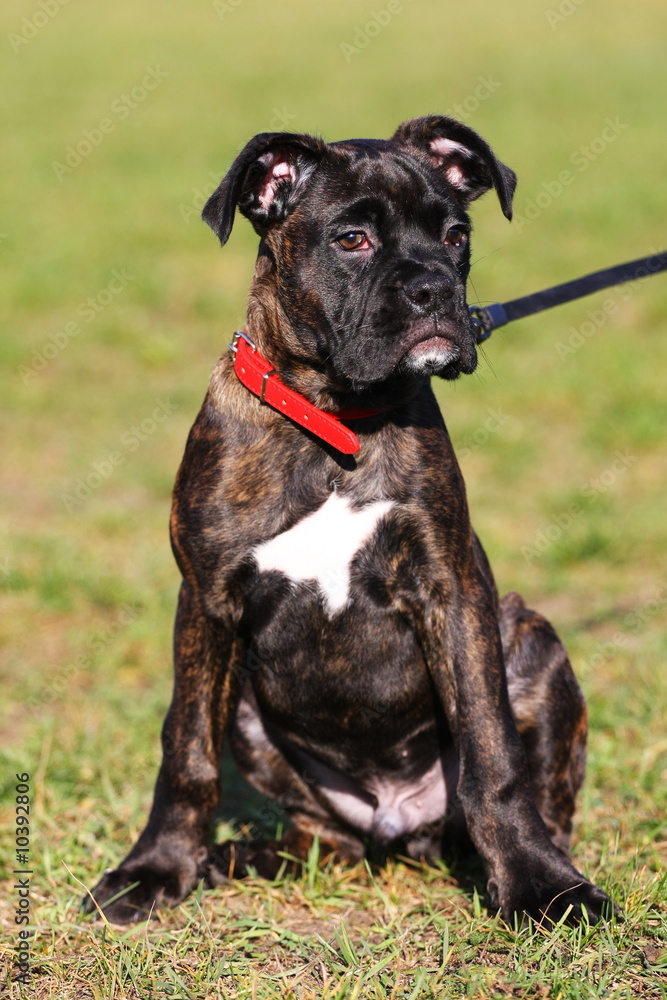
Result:
{"label": "puppy's brindle hind leg behind its right-hand front leg", "polygon": [[506,594],[500,602],[500,631],[532,792],[554,845],[567,856],[586,767],[584,696],[554,629],[518,594]]}

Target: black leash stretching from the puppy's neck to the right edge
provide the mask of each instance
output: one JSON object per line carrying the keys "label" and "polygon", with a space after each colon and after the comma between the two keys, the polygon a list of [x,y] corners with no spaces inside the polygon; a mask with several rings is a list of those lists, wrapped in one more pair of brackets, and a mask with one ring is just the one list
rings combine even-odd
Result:
{"label": "black leash stretching from the puppy's neck to the right edge", "polygon": [[492,306],[470,306],[472,321],[477,327],[477,343],[487,340],[499,326],[512,323],[515,319],[532,316],[533,313],[552,309],[554,306],[572,302],[584,295],[611,288],[612,285],[622,285],[626,281],[638,281],[652,274],[667,270],[667,253],[654,253],[650,257],[640,257],[639,260],[628,261],[627,264],[617,264],[607,267],[604,271],[595,271],[583,278],[566,281],[562,285],[546,288],[543,292],[524,295],[511,302],[494,303]]}

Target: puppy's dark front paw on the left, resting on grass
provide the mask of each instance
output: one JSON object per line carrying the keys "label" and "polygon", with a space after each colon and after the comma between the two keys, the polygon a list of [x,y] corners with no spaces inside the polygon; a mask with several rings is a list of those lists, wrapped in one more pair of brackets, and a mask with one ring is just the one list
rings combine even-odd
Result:
{"label": "puppy's dark front paw on the left, resting on grass", "polygon": [[81,903],[84,913],[101,910],[114,924],[147,920],[161,907],[176,906],[194,888],[197,866],[178,868],[165,865],[128,862],[105,872],[102,879]]}

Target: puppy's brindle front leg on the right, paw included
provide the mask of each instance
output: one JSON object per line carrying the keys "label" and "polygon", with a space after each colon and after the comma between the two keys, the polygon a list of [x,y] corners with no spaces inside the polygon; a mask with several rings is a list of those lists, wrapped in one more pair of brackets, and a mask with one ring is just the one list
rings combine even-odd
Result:
{"label": "puppy's brindle front leg on the right, paw included", "polygon": [[458,794],[488,891],[505,919],[527,913],[557,921],[584,905],[592,921],[611,909],[554,847],[530,792],[525,753],[512,717],[497,610],[475,568],[433,588],[418,634],[460,760]]}

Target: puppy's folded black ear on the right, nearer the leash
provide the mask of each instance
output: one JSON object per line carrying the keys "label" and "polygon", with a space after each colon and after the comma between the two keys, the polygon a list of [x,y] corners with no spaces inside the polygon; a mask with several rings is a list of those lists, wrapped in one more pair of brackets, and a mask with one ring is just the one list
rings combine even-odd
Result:
{"label": "puppy's folded black ear on the right, nearer the leash", "polygon": [[411,118],[398,126],[391,141],[426,153],[463,208],[494,187],[503,215],[512,218],[516,174],[467,125],[444,115]]}

